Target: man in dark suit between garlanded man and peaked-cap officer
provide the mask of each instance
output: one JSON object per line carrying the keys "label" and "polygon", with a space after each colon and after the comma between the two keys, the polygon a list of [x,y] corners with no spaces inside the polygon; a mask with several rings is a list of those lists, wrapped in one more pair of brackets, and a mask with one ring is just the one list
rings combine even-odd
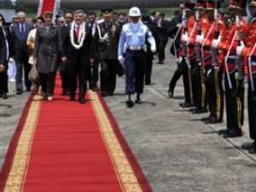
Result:
{"label": "man in dark suit between garlanded man and peaked-cap officer", "polygon": [[93,91],[97,91],[97,82],[99,80],[99,51],[96,46],[96,34],[97,31],[97,23],[96,23],[96,13],[90,12],[88,14],[89,22],[86,25],[90,28],[92,44],[91,44],[91,57],[90,57],[90,67],[88,70],[88,81],[90,84],[90,89]]}

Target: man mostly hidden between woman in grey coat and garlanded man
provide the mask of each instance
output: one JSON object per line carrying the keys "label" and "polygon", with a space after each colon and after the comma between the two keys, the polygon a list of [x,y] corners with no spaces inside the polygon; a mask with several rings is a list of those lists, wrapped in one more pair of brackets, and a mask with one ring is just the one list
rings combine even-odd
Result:
{"label": "man mostly hidden between woman in grey coat and garlanded man", "polygon": [[[66,33],[68,33],[68,26],[71,25],[72,21],[73,21],[73,13],[68,11],[65,13],[64,15],[64,26],[61,26],[61,37],[62,39],[67,36]],[[67,95],[67,90],[68,90],[68,75],[67,75],[67,65],[62,65],[61,70],[61,87],[62,87],[62,95],[66,96]]]}

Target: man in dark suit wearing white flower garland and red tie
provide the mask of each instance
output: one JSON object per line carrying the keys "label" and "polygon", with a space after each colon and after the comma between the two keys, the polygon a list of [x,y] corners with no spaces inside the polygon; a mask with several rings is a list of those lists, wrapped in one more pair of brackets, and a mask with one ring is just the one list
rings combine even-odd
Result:
{"label": "man in dark suit wearing white flower garland and red tie", "polygon": [[79,76],[79,102],[84,104],[87,90],[86,79],[90,65],[91,32],[84,23],[83,10],[75,11],[74,21],[71,26],[67,27],[65,34],[61,61],[67,63],[70,100],[73,101],[75,98],[77,76]]}

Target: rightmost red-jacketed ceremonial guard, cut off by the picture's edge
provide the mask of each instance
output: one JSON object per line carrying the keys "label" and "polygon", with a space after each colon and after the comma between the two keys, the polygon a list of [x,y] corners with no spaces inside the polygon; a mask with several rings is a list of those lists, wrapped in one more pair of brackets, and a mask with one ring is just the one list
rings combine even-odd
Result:
{"label": "rightmost red-jacketed ceremonial guard, cut off by the picture's edge", "polygon": [[244,44],[236,48],[236,53],[242,55],[245,61],[244,69],[249,83],[247,95],[249,131],[250,137],[254,140],[253,143],[243,144],[241,147],[249,149],[250,154],[256,154],[256,1],[253,0],[249,6],[253,18],[248,24],[247,32],[241,35]]}

